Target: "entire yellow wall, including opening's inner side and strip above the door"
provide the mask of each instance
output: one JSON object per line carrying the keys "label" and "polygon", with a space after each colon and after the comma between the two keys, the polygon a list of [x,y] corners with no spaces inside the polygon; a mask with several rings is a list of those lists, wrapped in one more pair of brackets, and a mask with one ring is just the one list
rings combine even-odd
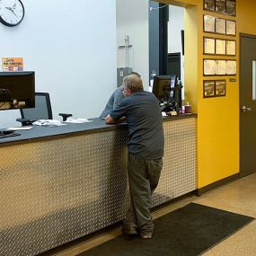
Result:
{"label": "entire yellow wall, including opening's inner side and strip above the door", "polygon": [[[203,11],[203,0],[180,2],[194,4],[185,11],[185,101],[191,102],[192,110],[198,113],[198,188],[202,188],[239,172],[239,33],[256,34],[256,3],[236,0],[236,17],[232,17]],[[203,76],[203,58],[207,57],[203,55],[203,36],[235,39],[203,33],[203,14],[236,21],[236,57],[213,58],[236,59],[237,75]],[[230,82],[230,78],[236,78],[236,82]],[[204,99],[203,80],[207,79],[225,79],[226,96]]]}

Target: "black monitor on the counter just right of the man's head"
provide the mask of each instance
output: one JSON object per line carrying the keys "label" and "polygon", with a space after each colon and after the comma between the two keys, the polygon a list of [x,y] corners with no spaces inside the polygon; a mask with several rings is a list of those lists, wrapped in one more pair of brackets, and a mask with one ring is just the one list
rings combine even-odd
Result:
{"label": "black monitor on the counter just right of the man's head", "polygon": [[160,102],[169,101],[175,85],[177,85],[177,75],[156,75],[152,93]]}

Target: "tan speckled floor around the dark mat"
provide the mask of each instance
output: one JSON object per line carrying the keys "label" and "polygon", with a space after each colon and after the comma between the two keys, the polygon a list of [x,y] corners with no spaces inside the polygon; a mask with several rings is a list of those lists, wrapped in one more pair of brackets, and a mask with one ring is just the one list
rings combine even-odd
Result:
{"label": "tan speckled floor around the dark mat", "polygon": [[[154,212],[153,217],[164,214],[182,207],[190,202],[199,203],[209,207],[231,211],[234,213],[252,216],[256,218],[256,173],[241,180],[233,181],[216,190],[211,190],[201,197],[190,197],[175,204]],[[80,252],[104,243],[120,234],[119,228],[108,233],[101,234],[91,240],[79,243],[63,252],[57,252],[54,256],[75,256]],[[246,225],[243,229],[231,235],[223,242],[203,254],[204,256],[255,256],[256,255],[256,220]],[[179,255],[177,255],[179,256]]]}

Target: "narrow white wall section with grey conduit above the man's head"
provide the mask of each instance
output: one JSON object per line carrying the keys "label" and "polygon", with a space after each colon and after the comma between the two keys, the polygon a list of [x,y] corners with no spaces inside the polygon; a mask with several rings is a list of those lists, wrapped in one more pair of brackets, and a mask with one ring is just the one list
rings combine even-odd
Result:
{"label": "narrow white wall section with grey conduit above the man's head", "polygon": [[[125,44],[128,35],[132,49],[129,50],[129,66],[142,75],[144,87],[148,90],[149,42],[148,42],[148,0],[116,0],[117,43]],[[118,49],[118,67],[126,66],[125,51]]]}

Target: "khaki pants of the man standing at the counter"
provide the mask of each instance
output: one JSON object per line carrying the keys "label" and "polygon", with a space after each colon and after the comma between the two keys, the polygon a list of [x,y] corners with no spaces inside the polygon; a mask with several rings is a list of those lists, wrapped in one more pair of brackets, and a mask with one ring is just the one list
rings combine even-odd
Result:
{"label": "khaki pants of the man standing at the counter", "polygon": [[124,226],[135,227],[139,232],[153,233],[154,225],[150,213],[151,199],[158,184],[162,166],[162,158],[144,159],[128,154],[130,207]]}

